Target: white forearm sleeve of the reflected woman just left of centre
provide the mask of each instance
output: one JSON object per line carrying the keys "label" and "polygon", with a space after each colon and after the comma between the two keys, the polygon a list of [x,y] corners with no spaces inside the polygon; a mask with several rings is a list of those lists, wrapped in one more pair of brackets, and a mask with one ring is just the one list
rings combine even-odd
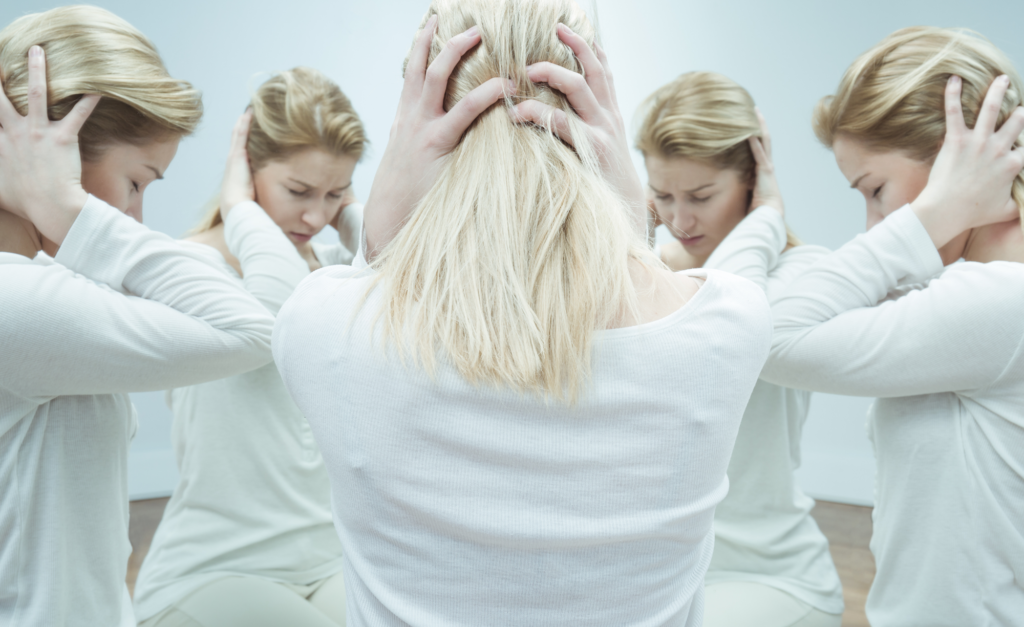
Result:
{"label": "white forearm sleeve of the reflected woman just left of centre", "polygon": [[228,212],[224,240],[242,265],[246,291],[271,314],[278,314],[309,275],[309,264],[295,245],[256,203],[241,203]]}

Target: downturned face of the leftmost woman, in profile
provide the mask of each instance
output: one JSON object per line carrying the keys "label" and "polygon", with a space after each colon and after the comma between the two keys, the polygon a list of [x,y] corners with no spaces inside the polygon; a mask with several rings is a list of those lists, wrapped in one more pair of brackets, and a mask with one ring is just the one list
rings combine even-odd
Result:
{"label": "downturned face of the leftmost woman, in profile", "polygon": [[141,222],[142,195],[150,183],[164,177],[180,141],[174,137],[109,147],[98,159],[82,162],[82,187]]}

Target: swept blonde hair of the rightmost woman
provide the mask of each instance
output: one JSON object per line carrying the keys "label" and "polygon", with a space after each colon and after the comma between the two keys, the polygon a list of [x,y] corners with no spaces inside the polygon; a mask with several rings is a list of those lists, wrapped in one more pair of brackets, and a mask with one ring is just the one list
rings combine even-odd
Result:
{"label": "swept blonde hair of the rightmost woman", "polygon": [[[831,148],[849,135],[874,151],[900,151],[930,162],[946,133],[945,89],[951,75],[964,82],[964,120],[974,127],[992,81],[1010,77],[997,125],[1024,103],[1024,83],[1013,64],[987,39],[964,29],[914,27],[896,31],[847,69],[835,95],[814,110],[814,132]],[[1016,145],[1024,145],[1024,135]],[[1013,199],[1024,215],[1024,173]]]}

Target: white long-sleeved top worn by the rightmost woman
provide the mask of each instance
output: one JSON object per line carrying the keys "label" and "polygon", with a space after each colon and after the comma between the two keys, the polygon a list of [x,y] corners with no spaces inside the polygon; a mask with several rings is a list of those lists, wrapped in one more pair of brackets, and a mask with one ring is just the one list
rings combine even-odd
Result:
{"label": "white long-sleeved top worn by the rightmost woman", "polygon": [[874,627],[1024,620],[1022,310],[1024,264],[943,268],[909,207],[819,261],[772,309],[763,378],[880,396],[868,417]]}

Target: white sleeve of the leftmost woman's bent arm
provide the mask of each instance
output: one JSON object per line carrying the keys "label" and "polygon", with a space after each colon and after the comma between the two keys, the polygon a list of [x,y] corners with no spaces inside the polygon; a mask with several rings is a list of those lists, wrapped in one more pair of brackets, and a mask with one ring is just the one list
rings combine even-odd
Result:
{"label": "white sleeve of the leftmost woman's bent arm", "polygon": [[0,386],[25,399],[167,389],[271,359],[253,296],[93,197],[54,263],[0,273]]}

